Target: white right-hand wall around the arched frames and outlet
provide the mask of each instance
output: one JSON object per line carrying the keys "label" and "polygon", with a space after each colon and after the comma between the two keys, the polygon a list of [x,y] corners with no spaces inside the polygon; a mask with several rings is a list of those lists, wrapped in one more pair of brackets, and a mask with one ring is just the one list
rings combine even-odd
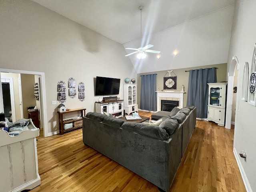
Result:
{"label": "white right-hand wall around the arched frames and outlet", "polygon": [[[252,52],[256,43],[256,1],[239,0],[236,1],[234,11],[234,22],[232,36],[230,41],[230,52],[228,55],[228,69],[232,57],[236,56],[240,63],[238,74],[238,100],[236,105],[234,153],[238,159],[238,166],[242,171],[247,191],[256,191],[256,106],[241,100],[241,83],[244,62],[249,63],[249,69],[252,61]],[[240,158],[242,150],[246,151],[246,161]]]}

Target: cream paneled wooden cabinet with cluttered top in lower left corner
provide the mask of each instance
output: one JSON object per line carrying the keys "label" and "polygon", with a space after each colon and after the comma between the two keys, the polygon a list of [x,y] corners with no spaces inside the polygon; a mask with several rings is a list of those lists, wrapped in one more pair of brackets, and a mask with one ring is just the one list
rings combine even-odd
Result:
{"label": "cream paneled wooden cabinet with cluttered top in lower left corner", "polygon": [[30,121],[28,130],[17,136],[10,136],[7,131],[0,130],[1,192],[20,192],[41,184],[36,150],[39,129],[31,119],[21,119],[17,122],[24,121]]}

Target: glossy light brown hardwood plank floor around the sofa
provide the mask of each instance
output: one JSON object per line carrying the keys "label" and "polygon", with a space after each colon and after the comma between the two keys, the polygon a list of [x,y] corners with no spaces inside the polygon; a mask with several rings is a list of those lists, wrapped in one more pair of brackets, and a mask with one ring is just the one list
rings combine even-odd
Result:
{"label": "glossy light brown hardwood plank floor around the sofa", "polygon": [[[139,111],[141,116],[152,113]],[[246,192],[233,150],[234,128],[197,121],[170,192]],[[31,192],[158,192],[158,187],[82,142],[82,129],[38,137],[42,184]]]}

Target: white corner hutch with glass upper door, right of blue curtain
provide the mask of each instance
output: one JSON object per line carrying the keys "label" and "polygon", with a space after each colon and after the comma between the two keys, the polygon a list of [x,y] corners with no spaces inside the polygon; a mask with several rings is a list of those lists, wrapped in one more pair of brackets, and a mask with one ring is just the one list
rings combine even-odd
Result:
{"label": "white corner hutch with glass upper door, right of blue curtain", "polygon": [[219,126],[225,125],[226,85],[226,82],[208,83],[207,120],[214,121]]}

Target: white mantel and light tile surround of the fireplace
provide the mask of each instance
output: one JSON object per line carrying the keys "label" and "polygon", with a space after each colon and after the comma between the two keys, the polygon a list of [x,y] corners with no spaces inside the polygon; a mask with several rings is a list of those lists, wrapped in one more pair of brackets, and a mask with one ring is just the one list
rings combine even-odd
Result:
{"label": "white mantel and light tile surround of the fireplace", "polygon": [[183,94],[180,91],[157,91],[157,111],[161,110],[161,100],[178,101],[179,108],[183,108]]}

